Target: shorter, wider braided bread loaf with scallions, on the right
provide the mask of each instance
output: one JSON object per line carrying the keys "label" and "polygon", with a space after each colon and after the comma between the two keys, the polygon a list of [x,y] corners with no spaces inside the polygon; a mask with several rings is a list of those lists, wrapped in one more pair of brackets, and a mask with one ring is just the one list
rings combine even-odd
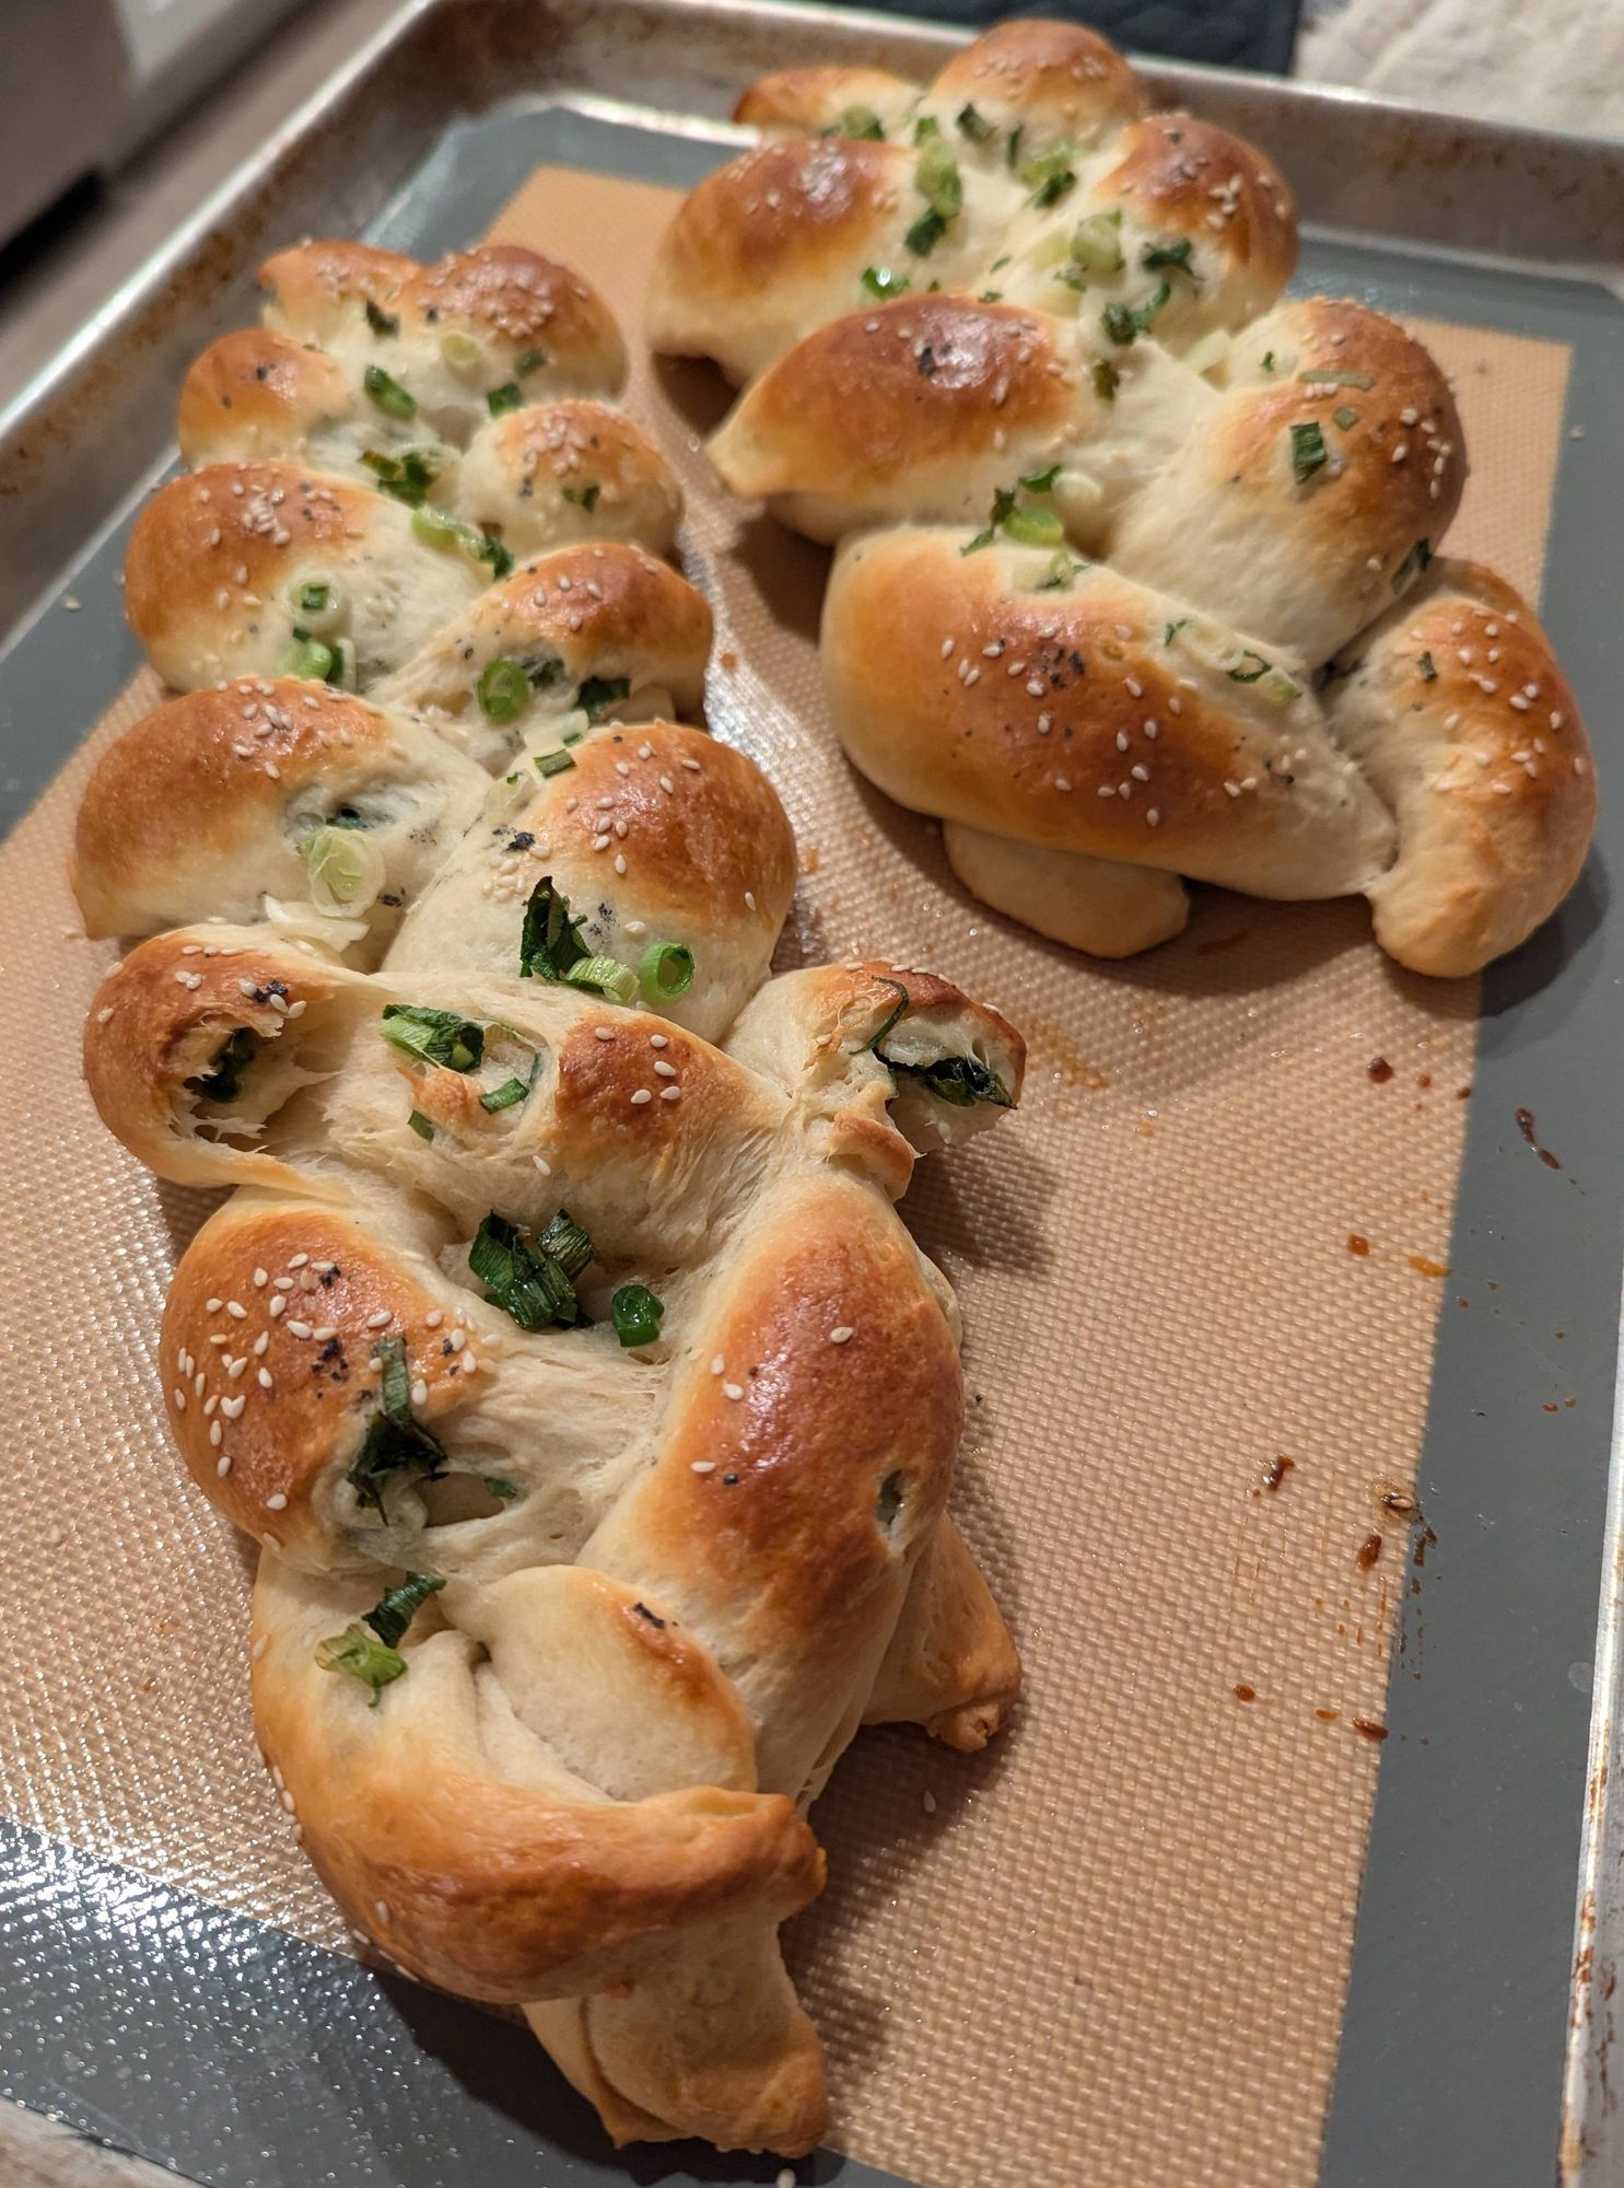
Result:
{"label": "shorter, wider braided bread loaf with scallions, on the right", "polygon": [[1175,934],[1186,875],[1364,893],[1416,971],[1517,947],[1589,847],[1578,707],[1526,604],[1436,560],[1466,457],[1434,359],[1278,302],[1269,162],[1055,22],[738,118],[768,138],[678,210],[650,339],[749,383],[727,486],[845,540],[836,733],[965,886],[1103,956]]}

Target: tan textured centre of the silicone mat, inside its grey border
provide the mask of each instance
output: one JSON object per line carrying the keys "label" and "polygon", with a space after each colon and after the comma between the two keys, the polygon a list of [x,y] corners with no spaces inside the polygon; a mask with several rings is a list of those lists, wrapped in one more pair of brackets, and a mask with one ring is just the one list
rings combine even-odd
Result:
{"label": "tan textured centre of the silicone mat, inside its grey border", "polygon": [[[665,210],[646,186],[543,173],[499,232],[589,267],[630,330]],[[1425,333],[1477,464],[1451,547],[1532,586],[1565,352]],[[865,1735],[819,1807],[834,1884],[790,1947],[838,2140],[941,2188],[1016,2160],[1055,2188],[1300,2184],[1379,1753],[1355,1720],[1381,1722],[1410,1558],[1381,1492],[1410,1477],[1451,1297],[1475,993],[1396,974],[1357,906],[1208,893],[1178,945],[1110,971],[965,899],[935,827],[827,737],[825,558],[711,492],[698,435],[722,400],[707,370],[646,361],[633,389],[683,470],[687,567],[718,608],[711,722],[801,836],[786,961],[937,965],[1033,1041],[1024,1114],[910,1197],[965,1304],[959,1508],[1029,1691],[976,1764]],[[138,685],[98,735],[153,696]],[[0,1470],[0,1809],[337,1947],[254,1757],[247,1560],[184,1488],[151,1383],[201,1203],[138,1173],[79,1087],[105,958],[70,941],[61,882],[85,766],[0,853],[31,1247],[0,1278],[26,1462]]]}

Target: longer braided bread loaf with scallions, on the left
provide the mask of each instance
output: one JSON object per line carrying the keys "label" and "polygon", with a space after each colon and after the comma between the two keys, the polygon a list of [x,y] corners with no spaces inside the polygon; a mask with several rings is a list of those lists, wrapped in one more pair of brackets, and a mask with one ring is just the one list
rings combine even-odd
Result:
{"label": "longer braided bread loaf with scallions, on the left", "polygon": [[552,400],[617,383],[591,291],[523,252],[267,276],[129,549],[179,696],[74,851],[88,930],[147,936],[96,1105],[236,1188],[169,1420],[260,1543],[256,1726],[357,1934],[523,2004],[617,2140],[797,2153],[805,1807],[860,1722],[974,1750],[1018,1685],[946,1514],[956,1306],[891,1203],[1022,1044],[928,974],[768,978],[794,842],[672,718],[711,619],[648,551],[670,473]]}

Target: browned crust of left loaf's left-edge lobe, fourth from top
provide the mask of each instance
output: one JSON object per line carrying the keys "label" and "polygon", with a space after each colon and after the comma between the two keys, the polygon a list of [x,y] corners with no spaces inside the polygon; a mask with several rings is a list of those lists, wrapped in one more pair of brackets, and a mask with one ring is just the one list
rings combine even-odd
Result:
{"label": "browned crust of left loaf's left-edge lobe, fourth from top", "polygon": [[293,676],[241,676],[153,707],[101,755],[79,803],[72,888],[85,932],[131,932],[131,910],[199,838],[230,856],[304,783],[326,781],[335,750],[363,766],[396,735],[366,700]]}

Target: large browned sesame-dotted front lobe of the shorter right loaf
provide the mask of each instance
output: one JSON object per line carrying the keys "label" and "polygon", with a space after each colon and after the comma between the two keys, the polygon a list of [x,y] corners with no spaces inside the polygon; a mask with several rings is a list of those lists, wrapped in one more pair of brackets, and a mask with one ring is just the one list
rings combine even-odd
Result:
{"label": "large browned sesame-dotted front lobe of the shorter right loaf", "polygon": [[[1180,604],[1110,571],[1035,591],[1037,554],[965,545],[873,534],[836,562],[834,722],[882,790],[998,836],[1265,895],[1342,895],[1385,864],[1385,818],[1307,698],[1274,707],[1223,672],[1191,678],[1167,643]],[[1234,652],[1250,674],[1239,639]]]}

